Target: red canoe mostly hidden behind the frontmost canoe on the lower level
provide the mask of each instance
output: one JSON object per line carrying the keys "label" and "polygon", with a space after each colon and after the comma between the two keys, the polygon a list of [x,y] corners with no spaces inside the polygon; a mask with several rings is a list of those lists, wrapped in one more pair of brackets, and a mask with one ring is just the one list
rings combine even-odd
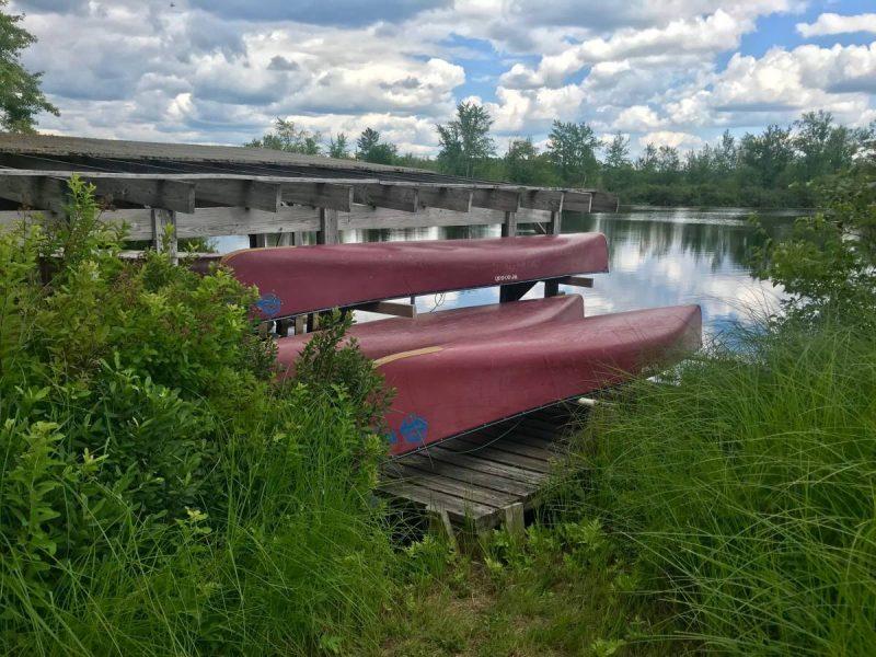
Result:
{"label": "red canoe mostly hidden behind the frontmost canoe on the lower level", "polygon": [[[463,338],[477,339],[499,331],[528,332],[549,322],[583,319],[584,299],[579,295],[566,295],[441,310],[412,319],[354,324],[347,337],[356,338],[361,353],[377,360],[390,354],[445,345]],[[295,361],[312,337],[312,333],[306,333],[277,341],[277,361],[283,378],[293,374]]]}

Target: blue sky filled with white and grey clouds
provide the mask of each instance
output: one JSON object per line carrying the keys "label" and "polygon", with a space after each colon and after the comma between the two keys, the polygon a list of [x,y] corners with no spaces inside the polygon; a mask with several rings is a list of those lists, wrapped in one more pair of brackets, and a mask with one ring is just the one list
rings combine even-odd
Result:
{"label": "blue sky filled with white and grey clouds", "polygon": [[499,152],[587,122],[680,149],[876,120],[876,0],[12,0],[45,132],[239,145],[275,117],[431,155],[473,101]]}

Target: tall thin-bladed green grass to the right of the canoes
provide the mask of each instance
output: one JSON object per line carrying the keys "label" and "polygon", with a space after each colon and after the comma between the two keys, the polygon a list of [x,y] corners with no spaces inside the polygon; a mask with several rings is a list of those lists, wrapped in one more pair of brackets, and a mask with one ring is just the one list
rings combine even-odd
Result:
{"label": "tall thin-bladed green grass to the right of the canoes", "polygon": [[876,344],[747,335],[593,415],[592,499],[679,634],[737,654],[876,646]]}

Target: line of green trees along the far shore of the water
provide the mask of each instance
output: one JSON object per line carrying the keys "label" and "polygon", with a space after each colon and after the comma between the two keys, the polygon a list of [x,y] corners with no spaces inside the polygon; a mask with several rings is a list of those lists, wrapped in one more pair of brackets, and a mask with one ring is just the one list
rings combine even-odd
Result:
{"label": "line of green trees along the far shore of the water", "polygon": [[716,143],[688,151],[646,143],[637,157],[620,132],[606,140],[587,123],[554,120],[543,149],[531,137],[518,137],[500,153],[492,125],[485,107],[460,103],[453,120],[436,126],[435,158],[402,154],[370,127],[355,145],[343,132],[325,142],[281,118],[246,146],[525,185],[598,187],[626,204],[808,207],[817,200],[811,183],[848,170],[876,140],[876,122],[851,128],[818,111],[741,138],[727,130]]}

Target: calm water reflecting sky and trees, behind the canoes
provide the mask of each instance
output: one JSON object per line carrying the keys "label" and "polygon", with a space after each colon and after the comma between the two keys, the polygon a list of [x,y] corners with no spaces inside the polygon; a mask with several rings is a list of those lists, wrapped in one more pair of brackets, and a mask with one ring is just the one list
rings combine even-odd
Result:
{"label": "calm water reflecting sky and trees, behind the canoes", "polygon": [[[751,276],[746,261],[758,244],[749,226],[749,211],[733,208],[633,208],[615,215],[565,215],[563,232],[599,231],[610,250],[610,273],[595,275],[592,289],[583,292],[588,315],[639,308],[700,303],[708,333],[749,319],[749,309],[775,308],[781,289]],[[793,212],[762,215],[768,232],[782,237],[791,229]],[[529,227],[523,226],[525,230]],[[499,227],[425,228],[348,231],[345,242],[437,240],[498,237]],[[245,238],[220,238],[220,251],[245,246]],[[535,286],[526,298],[541,297]],[[498,288],[448,292],[417,298],[417,310],[479,306],[498,301]],[[359,321],[373,319],[358,313]]]}

